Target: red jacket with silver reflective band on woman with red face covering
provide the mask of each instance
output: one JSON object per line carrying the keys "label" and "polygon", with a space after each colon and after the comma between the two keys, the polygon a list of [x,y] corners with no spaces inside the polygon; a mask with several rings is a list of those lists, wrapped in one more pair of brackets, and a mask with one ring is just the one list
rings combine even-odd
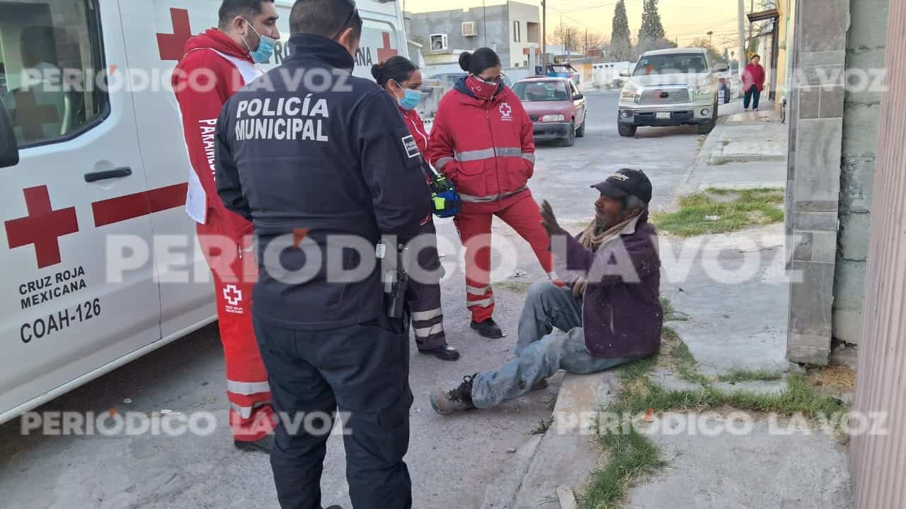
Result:
{"label": "red jacket with silver reflective band on woman with red face covering", "polygon": [[532,120],[505,86],[485,101],[460,79],[440,100],[426,156],[463,201],[496,202],[525,190],[535,173]]}

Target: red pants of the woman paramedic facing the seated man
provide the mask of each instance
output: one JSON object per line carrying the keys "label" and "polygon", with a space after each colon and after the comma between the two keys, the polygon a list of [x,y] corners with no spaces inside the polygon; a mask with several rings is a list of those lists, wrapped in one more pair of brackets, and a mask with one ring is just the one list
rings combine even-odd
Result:
{"label": "red pants of the woman paramedic facing the seated man", "polygon": [[466,246],[466,301],[475,322],[485,322],[494,314],[494,291],[491,289],[491,222],[494,216],[512,226],[532,246],[545,273],[556,279],[551,239],[541,226],[541,212],[531,191],[495,203],[463,204],[454,222],[459,239]]}

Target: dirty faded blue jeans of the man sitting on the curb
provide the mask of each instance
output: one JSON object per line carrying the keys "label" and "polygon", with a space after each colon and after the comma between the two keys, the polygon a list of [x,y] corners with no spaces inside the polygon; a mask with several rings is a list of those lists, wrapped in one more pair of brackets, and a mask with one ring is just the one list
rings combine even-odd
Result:
{"label": "dirty faded blue jeans of the man sitting on the curb", "polygon": [[[552,334],[554,327],[566,335]],[[585,349],[582,304],[573,297],[573,290],[553,283],[535,283],[528,291],[519,319],[516,356],[500,370],[479,374],[472,381],[476,408],[518,398],[557,370],[585,375],[638,359],[593,357]]]}

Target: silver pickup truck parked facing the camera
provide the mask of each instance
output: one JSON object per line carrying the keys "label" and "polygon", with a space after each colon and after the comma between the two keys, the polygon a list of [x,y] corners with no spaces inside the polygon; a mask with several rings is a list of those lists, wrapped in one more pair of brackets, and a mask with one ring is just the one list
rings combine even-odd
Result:
{"label": "silver pickup truck parked facing the camera", "polygon": [[635,136],[639,126],[696,125],[708,134],[718,121],[718,73],[701,48],[644,53],[620,93],[617,129]]}

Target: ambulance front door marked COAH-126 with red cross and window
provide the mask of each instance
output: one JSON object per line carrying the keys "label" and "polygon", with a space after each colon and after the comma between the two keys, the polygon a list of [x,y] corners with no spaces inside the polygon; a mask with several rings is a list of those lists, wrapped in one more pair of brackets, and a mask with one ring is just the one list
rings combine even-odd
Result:
{"label": "ambulance front door marked COAH-126 with red cross and window", "polygon": [[0,422],[160,338],[149,214],[174,193],[146,186],[125,64],[114,0],[0,0]]}

